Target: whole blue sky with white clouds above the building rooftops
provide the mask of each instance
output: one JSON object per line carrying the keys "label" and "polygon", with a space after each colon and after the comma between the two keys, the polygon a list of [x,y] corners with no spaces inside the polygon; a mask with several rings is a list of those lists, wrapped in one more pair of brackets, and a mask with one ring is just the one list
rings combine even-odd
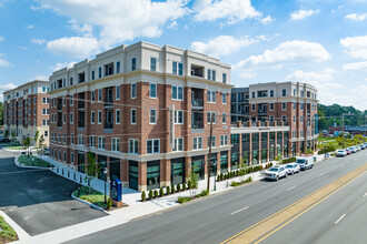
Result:
{"label": "whole blue sky with white clouds above the building rooftops", "polygon": [[366,110],[366,27],[367,0],[0,0],[0,91],[143,40],[217,57],[238,87],[306,81]]}

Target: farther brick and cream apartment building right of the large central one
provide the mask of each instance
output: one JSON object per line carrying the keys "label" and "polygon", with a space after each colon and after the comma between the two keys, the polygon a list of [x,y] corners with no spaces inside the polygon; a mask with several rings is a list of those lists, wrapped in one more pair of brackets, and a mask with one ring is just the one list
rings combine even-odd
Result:
{"label": "farther brick and cream apartment building right of the large central one", "polygon": [[251,84],[231,90],[231,123],[284,122],[289,126],[288,154],[317,144],[317,89],[301,82]]}

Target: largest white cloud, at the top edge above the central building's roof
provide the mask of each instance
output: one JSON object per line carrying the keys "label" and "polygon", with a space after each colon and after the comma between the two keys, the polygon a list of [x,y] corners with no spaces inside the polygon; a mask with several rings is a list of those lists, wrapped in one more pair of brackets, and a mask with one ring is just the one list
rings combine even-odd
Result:
{"label": "largest white cloud, at the top edge above the central building's roof", "polygon": [[[187,0],[39,0],[42,10],[52,10],[70,19],[70,28],[80,37],[48,42],[53,53],[90,57],[93,52],[135,38],[160,37],[167,22],[187,13]],[[37,9],[37,8],[33,8]],[[82,42],[86,47],[82,47]],[[77,44],[80,49],[73,47]],[[81,44],[81,45],[79,45]]]}

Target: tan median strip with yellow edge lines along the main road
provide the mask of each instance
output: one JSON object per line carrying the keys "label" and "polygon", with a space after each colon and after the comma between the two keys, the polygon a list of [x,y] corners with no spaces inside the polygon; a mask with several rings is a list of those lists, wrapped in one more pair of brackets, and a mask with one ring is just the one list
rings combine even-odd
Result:
{"label": "tan median strip with yellow edge lines along the main road", "polygon": [[360,177],[364,173],[366,173],[366,171],[367,164],[364,164],[360,167],[323,186],[321,189],[298,200],[297,202],[286,206],[277,213],[227,238],[222,243],[259,243],[264,241],[269,235],[279,231],[281,227],[286,226],[310,209],[315,207],[326,199],[337,193],[339,190]]}

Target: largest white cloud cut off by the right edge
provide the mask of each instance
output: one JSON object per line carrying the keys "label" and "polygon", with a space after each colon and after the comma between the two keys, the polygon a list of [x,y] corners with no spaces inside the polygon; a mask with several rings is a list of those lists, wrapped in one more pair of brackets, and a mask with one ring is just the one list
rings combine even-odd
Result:
{"label": "largest white cloud cut off by the right edge", "polygon": [[367,59],[367,35],[345,38],[340,40],[340,44],[350,57]]}

